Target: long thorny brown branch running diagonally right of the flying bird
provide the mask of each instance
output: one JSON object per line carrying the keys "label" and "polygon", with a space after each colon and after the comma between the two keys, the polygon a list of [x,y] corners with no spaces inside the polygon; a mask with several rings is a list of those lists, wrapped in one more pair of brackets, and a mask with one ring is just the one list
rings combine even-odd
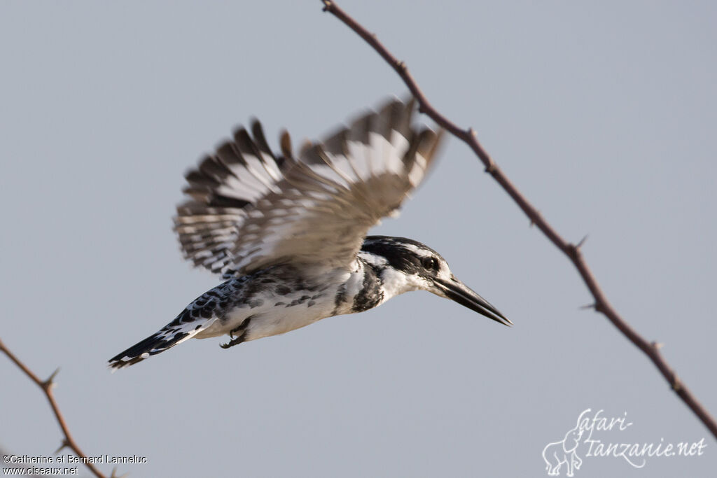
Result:
{"label": "long thorny brown branch running diagonally right of the flying bird", "polygon": [[493,176],[495,181],[498,181],[498,184],[503,187],[505,192],[508,193],[508,195],[513,198],[513,201],[516,201],[516,204],[518,204],[518,206],[523,210],[523,213],[528,216],[531,224],[537,226],[538,229],[540,229],[543,234],[550,239],[550,242],[555,244],[555,247],[560,249],[563,254],[570,259],[576,269],[578,269],[580,277],[582,277],[585,285],[587,285],[587,288],[595,300],[594,304],[592,304],[590,308],[593,308],[607,317],[607,319],[612,322],[612,325],[614,325],[620,332],[622,332],[623,335],[625,335],[625,337],[627,337],[628,340],[630,340],[630,342],[635,344],[637,348],[640,348],[640,350],[642,350],[642,352],[645,353],[650,360],[652,360],[652,363],[654,363],[660,373],[663,374],[663,377],[665,377],[665,380],[668,381],[673,391],[675,391],[675,393],[682,398],[693,413],[698,416],[698,419],[700,419],[717,438],[717,423],[715,423],[713,417],[702,406],[702,404],[697,401],[695,396],[693,396],[683,381],[678,378],[673,368],[671,368],[665,358],[663,358],[663,355],[660,353],[660,344],[655,342],[650,343],[642,338],[642,336],[638,334],[635,329],[630,327],[630,325],[628,325],[627,322],[620,317],[610,302],[608,302],[607,297],[605,297],[602,289],[597,283],[597,279],[595,279],[592,271],[588,267],[587,262],[585,262],[585,259],[580,252],[580,247],[583,241],[580,241],[578,244],[572,244],[563,239],[553,226],[551,226],[548,221],[543,219],[543,216],[541,216],[538,210],[528,202],[526,197],[518,191],[518,188],[516,188],[508,177],[503,174],[503,171],[498,168],[493,161],[493,158],[490,157],[485,149],[483,149],[483,146],[478,142],[473,128],[467,128],[464,130],[439,113],[423,95],[423,92],[418,87],[417,82],[408,71],[406,64],[394,57],[394,55],[391,54],[391,52],[389,52],[389,50],[386,49],[386,47],[384,47],[378,39],[376,39],[376,35],[369,33],[368,30],[362,27],[356,20],[351,18],[351,16],[346,14],[346,12],[339,8],[333,1],[322,0],[322,2],[324,5],[323,11],[328,11],[333,14],[333,16],[336,16],[336,18],[343,21],[347,27],[356,32],[356,34],[363,38],[366,43],[371,45],[371,47],[373,47],[374,50],[376,50],[376,52],[380,54],[381,57],[394,68],[394,70],[396,70],[416,98],[419,104],[419,111],[421,113],[428,115],[432,118],[432,120],[442,126],[442,128],[448,130],[452,135],[462,140],[473,150],[475,155],[478,156],[480,161],[482,161],[485,165],[485,172],[489,173],[490,176]]}

